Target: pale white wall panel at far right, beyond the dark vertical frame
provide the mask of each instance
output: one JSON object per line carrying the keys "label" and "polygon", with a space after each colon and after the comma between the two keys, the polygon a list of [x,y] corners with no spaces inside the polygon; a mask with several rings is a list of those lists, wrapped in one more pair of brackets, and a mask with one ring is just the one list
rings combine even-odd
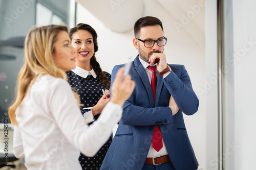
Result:
{"label": "pale white wall panel at far right, beyond the dark vertical frame", "polygon": [[[225,169],[255,169],[255,6],[256,2],[250,0],[232,0],[224,4],[224,19],[231,19],[232,23],[224,24],[226,40],[223,57],[224,64],[228,67],[224,74],[223,86]],[[229,17],[229,13],[232,14],[232,18]],[[230,32],[232,34],[229,34]]]}

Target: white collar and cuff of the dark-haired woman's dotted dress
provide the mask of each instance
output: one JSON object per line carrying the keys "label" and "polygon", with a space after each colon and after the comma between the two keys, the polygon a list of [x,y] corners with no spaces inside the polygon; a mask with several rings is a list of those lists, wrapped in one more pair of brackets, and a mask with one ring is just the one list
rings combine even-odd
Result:
{"label": "white collar and cuff of the dark-haired woman's dotted dress", "polygon": [[[93,76],[94,79],[97,78],[97,75],[96,75],[96,73],[93,69],[91,71],[87,71],[87,70],[85,70],[81,67],[76,66],[76,68],[72,69],[72,71],[76,75],[78,75],[78,76],[80,76],[84,79],[86,79],[87,76]],[[89,124],[89,123],[93,122],[95,119],[94,119],[94,116],[93,116],[92,107],[87,107],[87,108],[83,108],[83,109],[89,109],[90,110],[90,111],[83,114],[83,116],[86,120],[86,123]]]}

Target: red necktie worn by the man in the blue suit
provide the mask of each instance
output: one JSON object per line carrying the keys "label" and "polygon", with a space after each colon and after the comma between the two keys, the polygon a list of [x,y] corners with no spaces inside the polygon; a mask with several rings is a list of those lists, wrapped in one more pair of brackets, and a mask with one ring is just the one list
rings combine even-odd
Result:
{"label": "red necktie worn by the man in the blue suit", "polygon": [[[156,89],[157,89],[157,75],[156,66],[148,66],[153,75],[151,79],[151,88],[154,96],[154,104],[156,104]],[[152,137],[152,147],[159,152],[163,148],[162,133],[158,125],[155,125],[153,137]]]}

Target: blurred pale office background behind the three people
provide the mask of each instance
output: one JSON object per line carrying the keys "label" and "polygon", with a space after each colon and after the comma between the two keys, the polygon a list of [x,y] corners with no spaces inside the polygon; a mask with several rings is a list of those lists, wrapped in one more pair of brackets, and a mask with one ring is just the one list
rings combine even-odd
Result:
{"label": "blurred pale office background behind the three people", "polygon": [[8,140],[10,165],[3,169],[26,169],[24,160],[12,162],[7,110],[29,30],[88,23],[98,34],[96,58],[111,74],[137,56],[133,26],[143,16],[163,22],[167,62],[185,65],[199,98],[198,112],[184,115],[199,169],[255,169],[255,6],[252,0],[0,0],[0,154],[5,165]]}

